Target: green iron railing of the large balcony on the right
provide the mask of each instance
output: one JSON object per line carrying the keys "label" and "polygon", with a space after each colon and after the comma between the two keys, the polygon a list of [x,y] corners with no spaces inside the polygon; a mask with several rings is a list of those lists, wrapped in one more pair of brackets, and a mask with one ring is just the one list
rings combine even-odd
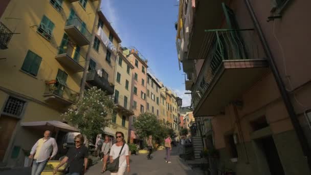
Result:
{"label": "green iron railing of the large balcony on the right", "polygon": [[206,30],[199,57],[204,58],[201,71],[192,87],[194,108],[208,89],[214,76],[226,60],[264,58],[259,38],[253,29]]}

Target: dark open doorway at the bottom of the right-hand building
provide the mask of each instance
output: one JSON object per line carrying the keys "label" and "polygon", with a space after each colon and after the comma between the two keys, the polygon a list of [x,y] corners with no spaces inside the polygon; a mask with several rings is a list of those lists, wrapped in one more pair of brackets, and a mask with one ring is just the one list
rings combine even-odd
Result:
{"label": "dark open doorway at the bottom of the right-hand building", "polygon": [[278,155],[272,136],[258,139],[271,174],[285,175],[281,160]]}

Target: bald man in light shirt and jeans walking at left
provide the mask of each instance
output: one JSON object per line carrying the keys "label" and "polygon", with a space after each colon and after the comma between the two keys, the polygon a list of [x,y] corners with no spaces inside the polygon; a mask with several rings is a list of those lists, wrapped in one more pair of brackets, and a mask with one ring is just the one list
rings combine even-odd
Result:
{"label": "bald man in light shirt and jeans walking at left", "polygon": [[50,130],[46,130],[44,137],[39,139],[31,149],[29,158],[34,159],[32,163],[31,175],[41,174],[48,161],[51,160],[57,153],[58,148],[56,141],[50,136]]}

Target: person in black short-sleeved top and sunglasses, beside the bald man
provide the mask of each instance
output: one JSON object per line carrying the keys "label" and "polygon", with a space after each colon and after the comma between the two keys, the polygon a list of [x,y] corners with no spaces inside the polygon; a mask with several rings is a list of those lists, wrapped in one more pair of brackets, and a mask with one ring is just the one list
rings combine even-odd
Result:
{"label": "person in black short-sleeved top and sunglasses, beside the bald man", "polygon": [[58,168],[66,162],[69,164],[69,175],[82,175],[86,172],[88,150],[87,147],[83,145],[83,143],[83,135],[77,135],[75,137],[75,147],[69,148],[66,156],[55,167],[53,174],[56,174]]}

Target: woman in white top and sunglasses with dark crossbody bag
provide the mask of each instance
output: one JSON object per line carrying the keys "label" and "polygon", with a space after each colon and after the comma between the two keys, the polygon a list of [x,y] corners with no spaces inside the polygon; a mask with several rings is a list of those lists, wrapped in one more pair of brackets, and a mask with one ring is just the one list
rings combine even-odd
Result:
{"label": "woman in white top and sunglasses with dark crossbody bag", "polygon": [[118,158],[120,150],[124,144],[119,158],[119,170],[118,172],[112,172],[111,175],[123,175],[125,171],[129,172],[129,156],[128,156],[128,145],[124,141],[124,134],[122,132],[116,133],[117,142],[111,147],[109,154],[110,163],[114,162]]}

